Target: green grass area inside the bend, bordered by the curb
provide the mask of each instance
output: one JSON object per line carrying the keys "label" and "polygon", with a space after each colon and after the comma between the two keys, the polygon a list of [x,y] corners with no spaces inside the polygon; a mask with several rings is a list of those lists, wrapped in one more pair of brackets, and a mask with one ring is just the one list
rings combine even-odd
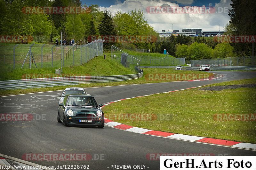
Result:
{"label": "green grass area inside the bend, bordered by the curb", "polygon": [[[210,86],[255,83],[245,79],[217,83]],[[140,104],[138,104],[140,103]],[[105,117],[130,126],[194,135],[256,143],[256,121],[216,121],[214,114],[255,114],[256,88],[202,91],[187,89],[123,100],[103,107]],[[144,114],[157,116],[151,121],[127,121],[114,117],[118,114]],[[123,117],[124,118],[124,117]]]}

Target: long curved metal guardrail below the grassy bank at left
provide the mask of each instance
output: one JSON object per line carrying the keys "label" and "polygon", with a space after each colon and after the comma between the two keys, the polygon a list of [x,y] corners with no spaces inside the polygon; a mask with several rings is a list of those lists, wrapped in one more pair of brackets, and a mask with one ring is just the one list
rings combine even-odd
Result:
{"label": "long curved metal guardrail below the grassy bank at left", "polygon": [[38,79],[22,79],[0,81],[0,89],[30,89],[63,85],[75,85],[79,83],[95,83],[110,81],[125,81],[143,77],[143,72],[127,75],[109,75],[109,76],[78,76],[78,77],[54,77]]}

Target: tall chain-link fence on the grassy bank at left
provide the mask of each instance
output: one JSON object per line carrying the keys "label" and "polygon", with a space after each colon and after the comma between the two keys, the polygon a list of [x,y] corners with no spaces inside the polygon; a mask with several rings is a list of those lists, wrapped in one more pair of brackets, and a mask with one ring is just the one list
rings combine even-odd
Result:
{"label": "tall chain-link fence on the grassy bank at left", "polygon": [[103,55],[102,43],[103,40],[98,39],[88,44],[76,43],[62,48],[61,45],[50,44],[0,46],[0,63],[5,69],[61,67],[63,59],[63,67],[77,66]]}

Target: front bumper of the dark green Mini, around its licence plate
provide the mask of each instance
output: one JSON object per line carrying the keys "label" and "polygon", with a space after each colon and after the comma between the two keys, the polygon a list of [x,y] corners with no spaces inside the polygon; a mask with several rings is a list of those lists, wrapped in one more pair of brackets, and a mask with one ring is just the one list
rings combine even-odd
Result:
{"label": "front bumper of the dark green Mini, around its licence plate", "polygon": [[[93,117],[93,118],[85,118],[85,117],[66,117],[67,124],[69,126],[100,126],[104,124],[104,117]],[[99,120],[100,118],[100,120]],[[81,123],[79,120],[92,120],[90,123]]]}

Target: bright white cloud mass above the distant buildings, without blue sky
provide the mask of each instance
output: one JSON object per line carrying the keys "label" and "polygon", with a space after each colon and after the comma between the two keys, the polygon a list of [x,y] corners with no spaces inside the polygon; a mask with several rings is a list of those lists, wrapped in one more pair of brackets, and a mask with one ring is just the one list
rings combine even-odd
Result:
{"label": "bright white cloud mass above the distant buildings, without blue sky", "polygon": [[[116,1],[117,2],[117,1]],[[183,3],[192,3],[193,0],[184,0]],[[202,28],[203,31],[223,31],[223,26],[228,24],[229,16],[228,9],[231,9],[230,0],[220,0],[220,3],[205,4],[205,6],[214,6],[216,9],[215,13],[209,14],[197,14],[197,13],[147,13],[146,8],[150,6],[171,6],[179,7],[182,5],[177,3],[171,3],[168,0],[125,0],[123,3],[118,3],[107,7],[107,10],[111,11],[112,16],[115,15],[117,11],[130,12],[131,10],[141,9],[144,11],[145,19],[148,19],[148,24],[153,26],[156,31],[166,30],[182,30],[183,28]],[[105,7],[101,7],[101,10],[105,10]],[[220,13],[218,13],[220,12]],[[226,13],[224,13],[226,12]]]}

